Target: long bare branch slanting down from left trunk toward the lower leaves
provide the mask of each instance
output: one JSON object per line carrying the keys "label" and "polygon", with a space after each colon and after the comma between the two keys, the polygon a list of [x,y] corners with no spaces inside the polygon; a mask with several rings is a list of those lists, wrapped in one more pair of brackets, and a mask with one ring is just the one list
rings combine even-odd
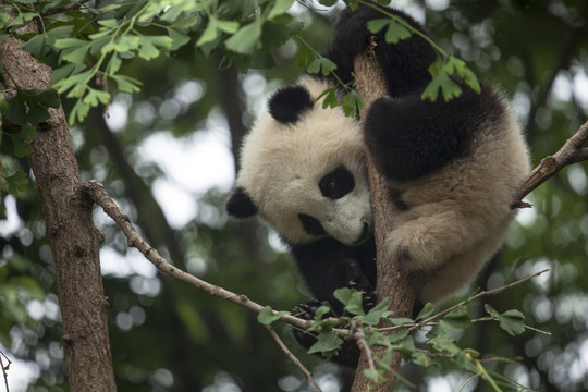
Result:
{"label": "long bare branch slanting down from left trunk toward the lower leaves", "polygon": [[[184,283],[193,285],[198,290],[205,291],[234,304],[242,305],[255,313],[259,313],[261,309],[264,309],[264,306],[250,301],[246,295],[235,294],[229,290],[210,284],[193,274],[182,271],[161,257],[157,249],[149,245],[135,230],[128,217],[121,212],[119,206],[117,206],[114,200],[112,200],[112,198],[108,195],[105,186],[101,183],[90,180],[83,184],[83,188],[87,192],[89,197],[97,205],[102,207],[105,212],[121,228],[126,236],[126,240],[128,241],[128,246],[137,248],[149,261],[154,264],[154,266],[157,267],[158,270],[169,274],[170,277],[179,279]],[[274,311],[274,314],[277,314],[277,311]],[[284,315],[280,318],[280,320],[303,329],[308,329],[311,324],[311,321],[303,320],[291,315]]]}

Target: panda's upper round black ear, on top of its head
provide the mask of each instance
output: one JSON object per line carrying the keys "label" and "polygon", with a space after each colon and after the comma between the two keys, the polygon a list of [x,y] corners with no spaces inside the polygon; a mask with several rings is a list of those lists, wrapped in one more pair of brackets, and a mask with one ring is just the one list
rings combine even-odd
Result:
{"label": "panda's upper round black ear, on top of its head", "polygon": [[294,124],[315,102],[310,93],[302,85],[280,88],[271,96],[268,108],[272,118],[282,124]]}

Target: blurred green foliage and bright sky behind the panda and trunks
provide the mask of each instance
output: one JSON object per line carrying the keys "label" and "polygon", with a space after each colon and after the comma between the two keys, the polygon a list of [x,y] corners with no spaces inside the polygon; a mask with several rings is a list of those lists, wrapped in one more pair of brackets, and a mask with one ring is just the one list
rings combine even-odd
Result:
{"label": "blurred green foliage and bright sky behind the panda and trunks", "polygon": [[[512,98],[534,166],[586,121],[588,2],[392,4],[424,21],[444,49]],[[305,23],[302,35],[317,49],[327,47],[333,17],[320,10],[318,3],[295,3],[290,11]],[[83,179],[105,183],[164,256],[208,282],[285,310],[307,298],[293,264],[266,228],[228,221],[223,201],[234,179],[233,156],[265,109],[265,97],[302,72],[294,65],[297,45],[291,40],[277,50],[271,71],[245,75],[219,71],[219,59],[203,57],[194,45],[172,58],[134,59],[124,72],[144,83],[142,91],[115,96],[106,117],[95,109],[71,130]],[[68,110],[71,102],[63,102]],[[9,163],[28,172],[26,160]],[[534,208],[520,211],[506,246],[477,283],[492,289],[551,268],[487,301],[500,311],[523,310],[527,324],[552,335],[527,331],[510,338],[493,323],[475,323],[460,336],[483,355],[520,357],[495,370],[539,391],[588,389],[587,169],[586,162],[568,167],[527,198]],[[13,360],[10,390],[68,391],[54,271],[37,191],[30,184],[16,197],[2,195],[1,201],[0,344]],[[95,222],[106,233],[101,260],[120,391],[311,390],[256,315],[157,273],[127,249],[100,209]],[[470,310],[483,314],[480,303]],[[323,391],[348,389],[347,372],[307,356],[289,328],[277,329]],[[468,377],[451,368],[404,371],[422,391],[457,390]],[[473,382],[466,390],[487,388]]]}

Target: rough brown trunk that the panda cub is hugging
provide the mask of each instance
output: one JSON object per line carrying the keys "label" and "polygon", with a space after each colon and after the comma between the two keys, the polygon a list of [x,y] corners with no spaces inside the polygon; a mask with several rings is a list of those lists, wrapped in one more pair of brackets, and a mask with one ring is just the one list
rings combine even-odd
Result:
{"label": "rough brown trunk that the panda cub is hugging", "polygon": [[[356,82],[354,88],[364,98],[365,103],[364,109],[360,111],[362,119],[365,119],[365,113],[375,100],[388,96],[385,78],[372,49],[368,49],[366,53],[355,59]],[[376,246],[378,248],[378,283],[376,295],[380,301],[389,298],[390,309],[394,311],[395,317],[411,317],[416,294],[425,283],[425,277],[408,274],[400,268],[397,262],[390,260],[383,252],[384,247],[382,244],[384,243],[385,234],[390,233],[393,228],[392,217],[394,212],[389,197],[390,188],[387,181],[379,175],[371,164],[371,158],[369,156],[368,173]],[[373,354],[378,356],[378,348],[375,348]],[[394,371],[399,370],[401,359],[401,355],[396,353],[391,366]],[[364,370],[368,368],[368,358],[366,352],[363,351],[352,392],[393,390],[396,379],[394,373],[388,373],[385,376],[387,381],[376,387],[371,380],[364,377]]]}

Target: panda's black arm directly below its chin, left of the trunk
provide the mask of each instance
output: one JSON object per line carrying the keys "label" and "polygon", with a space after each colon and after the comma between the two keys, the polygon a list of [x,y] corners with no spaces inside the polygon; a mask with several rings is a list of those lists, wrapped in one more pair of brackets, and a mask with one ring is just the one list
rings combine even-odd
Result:
{"label": "panda's black arm directly below its chin, left of the trunk", "polygon": [[342,305],[333,297],[333,292],[341,287],[365,292],[364,304],[373,305],[376,261],[371,244],[348,247],[324,238],[292,246],[291,253],[310,293],[318,301],[328,301],[335,311],[341,313]]}

